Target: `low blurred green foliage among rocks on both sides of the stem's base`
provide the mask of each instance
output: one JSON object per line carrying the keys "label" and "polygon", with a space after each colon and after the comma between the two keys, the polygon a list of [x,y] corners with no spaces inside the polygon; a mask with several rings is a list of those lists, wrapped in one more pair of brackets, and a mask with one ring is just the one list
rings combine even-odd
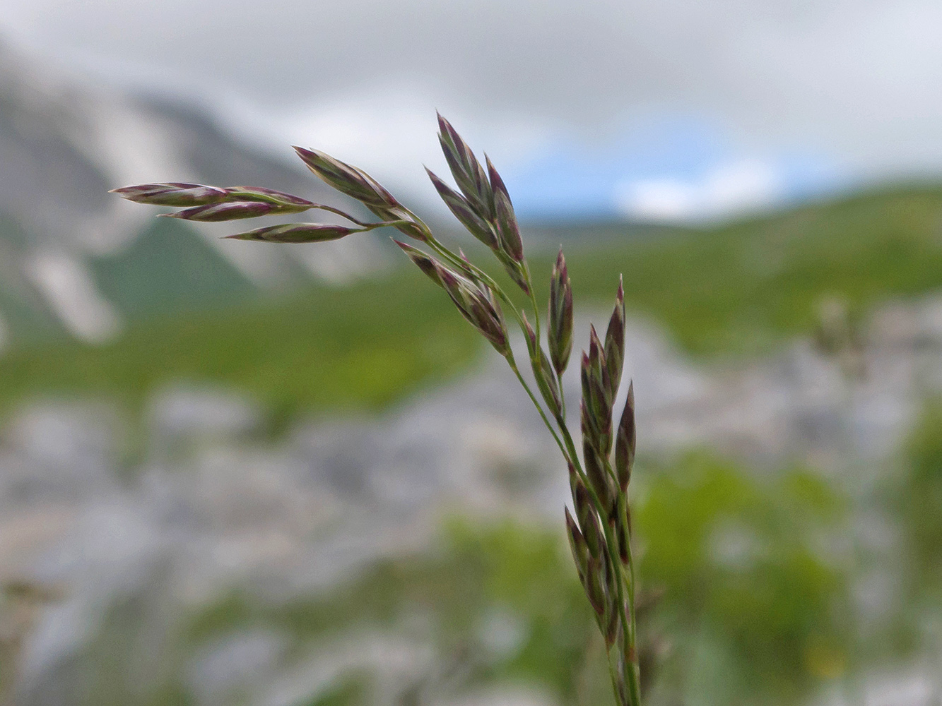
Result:
{"label": "low blurred green foliage among rocks on both sides of the stem's base", "polygon": [[[642,651],[660,655],[647,703],[795,703],[844,675],[853,622],[843,564],[828,554],[827,539],[846,518],[834,490],[804,470],[756,476],[706,455],[637,477],[646,478],[634,515],[641,589],[659,597],[640,623]],[[351,639],[387,635],[430,647],[426,671],[400,682],[402,703],[499,684],[528,684],[561,704],[611,699],[559,527],[454,517],[430,550],[374,562],[313,595],[263,602],[235,590],[164,623],[172,647],[154,660],[166,682],[154,682],[153,694],[113,677],[127,673],[135,645],[154,639],[135,634],[145,625],[138,608],[130,601],[112,611],[86,655],[86,671],[100,680],[91,683],[107,685],[95,692],[100,706],[149,705],[154,694],[191,703],[178,682],[187,656],[252,631],[287,636],[287,670]],[[299,706],[363,702],[377,686],[359,666]]]}

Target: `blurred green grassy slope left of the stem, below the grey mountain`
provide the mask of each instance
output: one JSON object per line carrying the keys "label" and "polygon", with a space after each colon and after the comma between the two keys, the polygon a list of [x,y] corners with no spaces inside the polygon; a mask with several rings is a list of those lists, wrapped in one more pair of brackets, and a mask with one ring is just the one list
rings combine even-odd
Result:
{"label": "blurred green grassy slope left of the stem, below the grey mountain", "polygon": [[[411,273],[410,273],[411,274]],[[0,358],[0,409],[28,395],[99,395],[137,410],[164,383],[249,393],[273,418],[370,409],[462,370],[478,340],[447,297],[395,276],[343,290],[153,317],[115,343],[60,342]]]}

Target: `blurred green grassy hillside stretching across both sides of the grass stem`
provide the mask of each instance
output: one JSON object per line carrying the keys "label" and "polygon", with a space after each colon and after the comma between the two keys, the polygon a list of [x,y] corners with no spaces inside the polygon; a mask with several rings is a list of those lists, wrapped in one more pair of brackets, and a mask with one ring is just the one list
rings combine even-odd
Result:
{"label": "blurred green grassy hillside stretching across both sides of the grass stem", "polygon": [[[807,332],[826,295],[863,309],[942,289],[942,190],[860,195],[714,230],[625,229],[623,241],[607,238],[604,247],[586,231],[581,245],[567,246],[577,302],[609,301],[624,272],[628,307],[704,356],[769,350]],[[551,260],[548,251],[531,258],[541,286]],[[447,298],[403,268],[344,290],[151,317],[103,347],[8,351],[0,409],[63,392],[133,406],[171,379],[230,383],[279,413],[374,407],[453,374],[479,350]]]}

